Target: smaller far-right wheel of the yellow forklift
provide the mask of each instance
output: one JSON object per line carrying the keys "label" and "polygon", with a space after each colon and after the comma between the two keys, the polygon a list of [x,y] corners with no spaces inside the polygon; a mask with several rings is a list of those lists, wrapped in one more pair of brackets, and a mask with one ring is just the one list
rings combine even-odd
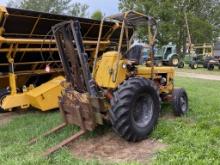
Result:
{"label": "smaller far-right wheel of the yellow forklift", "polygon": [[188,112],[188,96],[185,89],[174,89],[172,107],[175,116],[182,116]]}

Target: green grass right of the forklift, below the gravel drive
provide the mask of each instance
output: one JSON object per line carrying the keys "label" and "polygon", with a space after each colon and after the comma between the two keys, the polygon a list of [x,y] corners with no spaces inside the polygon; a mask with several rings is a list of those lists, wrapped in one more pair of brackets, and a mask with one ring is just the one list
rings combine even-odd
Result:
{"label": "green grass right of the forklift, below the gravel drive", "polygon": [[220,164],[220,81],[178,78],[189,96],[186,117],[161,120],[152,137],[169,145],[153,164]]}

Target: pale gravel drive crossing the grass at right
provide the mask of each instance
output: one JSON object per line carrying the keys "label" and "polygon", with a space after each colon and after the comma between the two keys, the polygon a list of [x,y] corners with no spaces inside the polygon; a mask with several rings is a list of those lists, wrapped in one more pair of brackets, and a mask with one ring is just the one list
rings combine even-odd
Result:
{"label": "pale gravel drive crossing the grass at right", "polygon": [[218,75],[209,75],[209,74],[199,74],[199,73],[187,73],[187,72],[176,72],[177,76],[180,77],[190,77],[190,78],[199,78],[205,80],[217,80],[220,81],[220,76]]}

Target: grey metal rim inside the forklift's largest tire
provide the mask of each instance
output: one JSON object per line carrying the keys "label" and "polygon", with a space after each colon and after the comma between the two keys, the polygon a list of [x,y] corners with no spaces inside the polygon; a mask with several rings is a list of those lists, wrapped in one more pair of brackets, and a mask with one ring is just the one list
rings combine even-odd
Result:
{"label": "grey metal rim inside the forklift's largest tire", "polygon": [[138,127],[146,127],[153,116],[153,99],[150,95],[143,95],[137,98],[133,109],[133,119]]}

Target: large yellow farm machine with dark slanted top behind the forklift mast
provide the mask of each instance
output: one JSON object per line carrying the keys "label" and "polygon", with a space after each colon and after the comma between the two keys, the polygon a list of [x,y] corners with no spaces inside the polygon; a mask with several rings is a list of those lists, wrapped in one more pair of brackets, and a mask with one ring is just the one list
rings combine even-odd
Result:
{"label": "large yellow farm machine with dark slanted top behind the forklift mast", "polygon": [[[100,21],[0,6],[0,110],[58,107],[63,67],[51,27],[79,20],[90,59],[96,53]],[[117,40],[114,23],[103,24],[100,51]],[[53,101],[47,101],[53,100]]]}

